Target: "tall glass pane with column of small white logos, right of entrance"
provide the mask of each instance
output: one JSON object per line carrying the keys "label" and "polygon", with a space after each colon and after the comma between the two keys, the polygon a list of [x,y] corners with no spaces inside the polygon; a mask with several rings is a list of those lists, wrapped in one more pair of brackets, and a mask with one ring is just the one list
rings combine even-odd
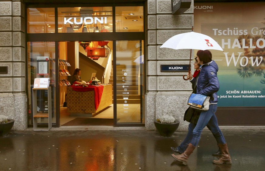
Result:
{"label": "tall glass pane with column of small white logos, right of entrance", "polygon": [[144,123],[143,43],[116,42],[117,123]]}

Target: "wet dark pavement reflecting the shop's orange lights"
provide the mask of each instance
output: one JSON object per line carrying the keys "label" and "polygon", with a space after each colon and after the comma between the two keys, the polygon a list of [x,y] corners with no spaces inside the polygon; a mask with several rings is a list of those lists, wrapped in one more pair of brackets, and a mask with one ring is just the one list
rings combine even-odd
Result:
{"label": "wet dark pavement reflecting the shop's orange lights", "polygon": [[170,147],[178,146],[186,133],[162,137],[145,129],[10,132],[0,137],[0,170],[265,170],[265,130],[223,130],[231,165],[212,163],[217,144],[207,130],[188,166],[175,161]]}

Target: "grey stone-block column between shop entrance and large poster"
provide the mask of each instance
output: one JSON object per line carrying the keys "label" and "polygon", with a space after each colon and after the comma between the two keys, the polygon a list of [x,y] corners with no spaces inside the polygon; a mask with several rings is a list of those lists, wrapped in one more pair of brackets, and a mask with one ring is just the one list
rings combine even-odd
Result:
{"label": "grey stone-block column between shop entrance and large poster", "polygon": [[193,1],[191,8],[182,15],[172,15],[171,0],[148,0],[146,6],[146,129],[155,130],[154,120],[164,113],[180,121],[177,131],[187,131],[189,123],[183,121],[183,116],[189,107],[187,101],[192,92],[191,83],[182,78],[187,73],[161,72],[160,67],[163,64],[189,64],[190,50],[160,46],[174,35],[192,31]]}

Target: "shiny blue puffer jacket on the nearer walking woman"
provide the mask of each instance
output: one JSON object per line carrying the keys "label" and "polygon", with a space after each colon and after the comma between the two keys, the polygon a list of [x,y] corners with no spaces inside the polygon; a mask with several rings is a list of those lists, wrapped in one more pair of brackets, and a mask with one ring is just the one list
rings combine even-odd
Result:
{"label": "shiny blue puffer jacket on the nearer walking woman", "polygon": [[[197,94],[211,96],[210,103],[217,103],[217,93],[220,87],[217,71],[218,65],[216,62],[211,61],[207,64],[201,65],[201,72],[197,82]],[[191,80],[192,82],[192,80]]]}

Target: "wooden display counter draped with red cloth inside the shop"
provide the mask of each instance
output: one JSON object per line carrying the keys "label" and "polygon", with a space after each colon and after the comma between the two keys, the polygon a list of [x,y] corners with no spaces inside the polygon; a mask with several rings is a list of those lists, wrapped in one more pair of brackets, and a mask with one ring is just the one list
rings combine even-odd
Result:
{"label": "wooden display counter draped with red cloth inside the shop", "polygon": [[95,114],[110,106],[112,104],[112,85],[102,86],[102,93],[100,86],[84,87],[83,89],[80,87],[81,91],[78,87],[67,87],[67,111],[78,114]]}

